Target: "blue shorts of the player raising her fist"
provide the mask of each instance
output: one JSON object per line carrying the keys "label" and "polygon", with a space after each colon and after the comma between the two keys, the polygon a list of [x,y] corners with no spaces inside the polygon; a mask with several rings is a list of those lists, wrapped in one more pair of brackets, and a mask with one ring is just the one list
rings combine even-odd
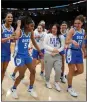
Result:
{"label": "blue shorts of the player raising her fist", "polygon": [[16,55],[14,58],[15,66],[24,66],[26,64],[32,63],[32,58],[28,56]]}

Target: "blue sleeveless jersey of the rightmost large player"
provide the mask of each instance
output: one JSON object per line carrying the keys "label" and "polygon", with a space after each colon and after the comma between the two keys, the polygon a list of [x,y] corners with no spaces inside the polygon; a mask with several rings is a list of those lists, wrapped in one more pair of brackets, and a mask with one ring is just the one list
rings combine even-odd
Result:
{"label": "blue sleeveless jersey of the rightmost large player", "polygon": [[81,49],[82,48],[82,44],[84,43],[84,29],[81,30],[81,32],[77,31],[75,28],[75,33],[72,37],[72,40],[75,40],[78,44],[79,47],[76,47],[74,44],[70,44],[70,48],[71,49]]}

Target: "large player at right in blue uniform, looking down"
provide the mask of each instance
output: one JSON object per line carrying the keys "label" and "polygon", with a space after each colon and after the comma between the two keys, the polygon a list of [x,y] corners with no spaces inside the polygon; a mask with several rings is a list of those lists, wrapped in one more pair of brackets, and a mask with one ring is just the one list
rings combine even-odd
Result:
{"label": "large player at right in blue uniform, looking down", "polygon": [[69,67],[67,91],[74,97],[77,97],[78,94],[72,87],[73,76],[83,73],[84,66],[82,51],[84,56],[86,55],[86,51],[83,48],[85,34],[84,29],[82,29],[83,22],[83,15],[77,16],[74,20],[74,28],[70,29],[66,38],[66,44],[69,44],[69,47],[66,50],[66,62]]}

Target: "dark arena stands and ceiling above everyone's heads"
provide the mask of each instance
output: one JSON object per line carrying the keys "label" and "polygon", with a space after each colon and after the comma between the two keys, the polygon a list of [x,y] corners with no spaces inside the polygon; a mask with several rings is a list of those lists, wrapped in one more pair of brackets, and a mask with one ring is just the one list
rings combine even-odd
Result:
{"label": "dark arena stands and ceiling above everyone's heads", "polygon": [[62,21],[66,21],[70,27],[74,18],[80,14],[84,15],[85,23],[87,23],[86,4],[87,0],[2,0],[2,23],[5,13],[10,11],[14,16],[14,27],[20,15],[31,16],[36,26],[40,20],[44,20],[47,29],[51,24],[56,22],[61,24]]}

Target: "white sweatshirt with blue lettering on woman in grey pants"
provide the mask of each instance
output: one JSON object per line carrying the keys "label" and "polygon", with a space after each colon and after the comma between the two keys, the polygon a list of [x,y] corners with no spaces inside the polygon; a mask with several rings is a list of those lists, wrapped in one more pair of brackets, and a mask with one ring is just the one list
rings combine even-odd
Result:
{"label": "white sweatshirt with blue lettering on woman in grey pants", "polygon": [[65,38],[60,35],[59,38],[53,34],[48,34],[44,38],[44,49],[45,53],[51,54],[53,49],[58,49],[59,52],[64,50]]}

